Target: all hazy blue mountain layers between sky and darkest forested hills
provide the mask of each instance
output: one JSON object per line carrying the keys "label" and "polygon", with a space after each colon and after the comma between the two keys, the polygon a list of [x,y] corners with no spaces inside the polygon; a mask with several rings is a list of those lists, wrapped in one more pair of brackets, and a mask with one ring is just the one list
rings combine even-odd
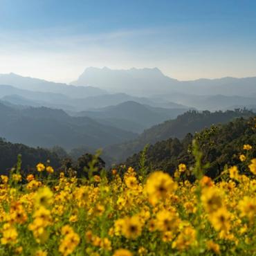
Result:
{"label": "all hazy blue mountain layers between sky and darkest forested hills", "polygon": [[189,110],[255,111],[256,77],[179,81],[158,68],[105,67],[86,68],[77,80],[63,84],[10,73],[0,75],[0,100],[0,136],[11,142],[68,150],[107,147],[119,161],[145,143],[230,120],[229,114],[224,120],[211,116],[193,126],[190,112],[188,120],[182,119]]}

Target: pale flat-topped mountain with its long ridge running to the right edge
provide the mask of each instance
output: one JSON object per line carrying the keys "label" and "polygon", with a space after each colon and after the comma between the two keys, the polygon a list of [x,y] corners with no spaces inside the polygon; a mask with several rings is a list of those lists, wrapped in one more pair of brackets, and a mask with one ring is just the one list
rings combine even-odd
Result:
{"label": "pale flat-topped mountain with its long ridge running to the right edge", "polygon": [[256,93],[256,77],[223,77],[212,80],[179,81],[163,75],[158,68],[111,70],[107,67],[91,67],[86,68],[84,73],[71,84],[79,86],[91,85],[109,91],[145,96],[161,93],[250,96]]}

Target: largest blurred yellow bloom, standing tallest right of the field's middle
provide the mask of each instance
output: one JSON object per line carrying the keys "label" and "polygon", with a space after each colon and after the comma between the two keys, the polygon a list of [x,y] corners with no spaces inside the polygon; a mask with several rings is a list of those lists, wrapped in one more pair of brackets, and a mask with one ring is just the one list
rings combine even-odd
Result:
{"label": "largest blurred yellow bloom, standing tallest right of the field's middle", "polygon": [[158,171],[153,172],[147,179],[145,191],[149,195],[149,201],[155,204],[159,199],[165,199],[167,194],[174,192],[176,188],[177,183],[169,174]]}

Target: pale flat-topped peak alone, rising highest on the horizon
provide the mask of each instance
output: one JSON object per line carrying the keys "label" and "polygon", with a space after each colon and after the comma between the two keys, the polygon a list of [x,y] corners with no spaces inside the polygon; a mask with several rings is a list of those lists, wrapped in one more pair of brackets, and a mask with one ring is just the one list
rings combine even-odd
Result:
{"label": "pale flat-topped peak alone, rising highest on the horizon", "polygon": [[[125,92],[133,95],[154,95],[176,86],[177,80],[167,77],[157,68],[111,69],[88,67],[71,84],[96,86],[114,93]],[[175,89],[174,87],[172,89]]]}

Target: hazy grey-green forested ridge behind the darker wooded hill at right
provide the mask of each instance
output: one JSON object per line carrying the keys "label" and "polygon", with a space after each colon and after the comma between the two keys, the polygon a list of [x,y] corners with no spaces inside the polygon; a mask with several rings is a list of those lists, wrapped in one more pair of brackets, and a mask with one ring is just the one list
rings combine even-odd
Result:
{"label": "hazy grey-green forested ridge behind the darker wooded hill at right", "polygon": [[140,152],[147,144],[154,144],[169,138],[182,139],[186,134],[194,134],[211,125],[226,123],[235,118],[249,118],[254,116],[252,111],[237,109],[235,111],[188,111],[178,116],[174,120],[168,120],[155,125],[143,132],[138,138],[130,140],[128,143],[111,145],[106,147],[105,152],[116,161],[125,161],[132,154]]}

